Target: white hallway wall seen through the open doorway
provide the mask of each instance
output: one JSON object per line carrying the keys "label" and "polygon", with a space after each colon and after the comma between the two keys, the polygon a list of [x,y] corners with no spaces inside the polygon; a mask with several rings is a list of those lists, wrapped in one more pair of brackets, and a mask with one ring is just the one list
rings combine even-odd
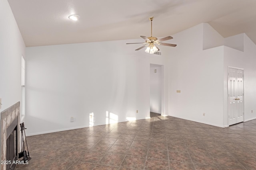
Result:
{"label": "white hallway wall seen through the open doorway", "polygon": [[[156,72],[154,71],[156,70]],[[150,64],[150,111],[161,114],[162,66]]]}

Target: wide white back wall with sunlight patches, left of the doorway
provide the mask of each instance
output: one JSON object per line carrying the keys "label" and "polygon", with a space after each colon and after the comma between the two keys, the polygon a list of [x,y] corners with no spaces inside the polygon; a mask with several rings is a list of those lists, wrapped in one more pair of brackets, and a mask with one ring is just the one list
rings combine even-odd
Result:
{"label": "wide white back wall with sunlight patches, left of the doorway", "polygon": [[135,41],[26,48],[28,134],[88,127],[92,112],[94,125],[150,117],[150,63],[165,59]]}

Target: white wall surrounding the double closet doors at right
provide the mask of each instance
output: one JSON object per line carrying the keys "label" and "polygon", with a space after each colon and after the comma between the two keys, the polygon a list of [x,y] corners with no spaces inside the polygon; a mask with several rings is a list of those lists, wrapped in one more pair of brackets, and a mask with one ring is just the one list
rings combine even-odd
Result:
{"label": "white wall surrounding the double closet doors at right", "polygon": [[[228,125],[228,66],[244,68],[244,120],[248,121],[256,119],[256,45],[246,34],[242,35],[244,41],[244,52],[230,47],[224,47],[224,125]],[[233,39],[233,41],[241,40],[241,35],[235,37],[237,39]],[[253,113],[251,112],[252,110]]]}

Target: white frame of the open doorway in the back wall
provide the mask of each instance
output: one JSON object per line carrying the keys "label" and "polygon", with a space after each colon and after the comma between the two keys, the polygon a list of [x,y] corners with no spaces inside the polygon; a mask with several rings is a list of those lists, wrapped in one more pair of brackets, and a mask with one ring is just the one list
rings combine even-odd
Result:
{"label": "white frame of the open doorway in the back wall", "polygon": [[[150,63],[154,64],[154,63]],[[149,68],[150,68],[149,64]],[[161,66],[161,115],[165,116],[165,111],[164,111],[164,65],[162,64],[154,64]],[[150,69],[149,69],[149,75],[150,75]],[[150,109],[150,76],[149,76],[149,109]]]}

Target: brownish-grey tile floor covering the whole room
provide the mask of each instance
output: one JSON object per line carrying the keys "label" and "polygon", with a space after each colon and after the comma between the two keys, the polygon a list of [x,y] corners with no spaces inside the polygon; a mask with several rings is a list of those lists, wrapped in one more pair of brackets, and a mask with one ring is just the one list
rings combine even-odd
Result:
{"label": "brownish-grey tile floor covering the whole room", "polygon": [[27,140],[32,159],[16,170],[256,170],[256,120],[220,128],[152,113]]}

